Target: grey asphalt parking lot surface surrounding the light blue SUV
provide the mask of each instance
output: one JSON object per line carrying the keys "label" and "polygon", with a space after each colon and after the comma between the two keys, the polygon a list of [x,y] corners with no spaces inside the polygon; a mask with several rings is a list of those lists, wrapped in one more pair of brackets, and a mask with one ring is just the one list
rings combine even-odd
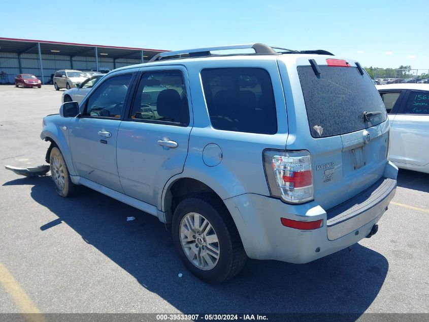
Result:
{"label": "grey asphalt parking lot surface surrounding the light blue SUV", "polygon": [[[61,92],[0,86],[2,165],[45,164],[42,118]],[[377,235],[351,251],[248,260],[221,285],[185,269],[153,216],[86,188],[61,198],[50,175],[0,178],[0,313],[429,313],[428,174],[400,170]]]}

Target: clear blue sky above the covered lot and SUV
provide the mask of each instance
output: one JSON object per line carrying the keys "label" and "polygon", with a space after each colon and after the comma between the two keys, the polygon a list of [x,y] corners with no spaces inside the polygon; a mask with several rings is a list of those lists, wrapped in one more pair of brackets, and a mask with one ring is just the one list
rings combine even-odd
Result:
{"label": "clear blue sky above the covered lot and SUV", "polygon": [[429,0],[23,0],[2,4],[0,37],[170,50],[262,42],[429,69],[428,12]]}

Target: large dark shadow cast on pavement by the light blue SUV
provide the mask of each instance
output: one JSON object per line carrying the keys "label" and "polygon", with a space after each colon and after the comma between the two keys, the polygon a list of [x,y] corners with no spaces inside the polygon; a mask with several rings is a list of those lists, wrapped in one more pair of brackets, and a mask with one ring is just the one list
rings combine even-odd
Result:
{"label": "large dark shadow cast on pavement by the light blue SUV", "polygon": [[[34,185],[31,197],[58,216],[35,229],[49,233],[61,222],[69,225],[183,313],[356,313],[346,318],[352,321],[374,301],[388,271],[384,256],[356,244],[351,252],[305,265],[249,259],[234,279],[210,285],[185,269],[170,233],[156,217],[85,187],[74,198],[61,198],[50,176],[5,185],[20,184]],[[136,220],[127,222],[127,216]]]}

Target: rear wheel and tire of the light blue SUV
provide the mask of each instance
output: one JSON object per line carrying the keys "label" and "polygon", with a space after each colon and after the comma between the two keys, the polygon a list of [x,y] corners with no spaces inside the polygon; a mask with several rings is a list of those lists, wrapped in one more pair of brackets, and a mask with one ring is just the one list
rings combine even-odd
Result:
{"label": "rear wheel and tire of the light blue SUV", "polygon": [[204,281],[230,279],[246,262],[237,227],[222,200],[213,194],[181,201],[174,212],[172,232],[183,263]]}

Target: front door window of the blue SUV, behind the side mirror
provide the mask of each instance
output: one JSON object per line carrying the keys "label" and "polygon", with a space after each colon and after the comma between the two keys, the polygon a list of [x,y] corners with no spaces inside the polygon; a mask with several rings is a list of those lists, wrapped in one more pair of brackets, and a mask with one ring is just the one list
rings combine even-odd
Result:
{"label": "front door window of the blue SUV, behind the side mirror", "polygon": [[88,98],[84,115],[120,118],[131,76],[114,76],[103,82]]}

